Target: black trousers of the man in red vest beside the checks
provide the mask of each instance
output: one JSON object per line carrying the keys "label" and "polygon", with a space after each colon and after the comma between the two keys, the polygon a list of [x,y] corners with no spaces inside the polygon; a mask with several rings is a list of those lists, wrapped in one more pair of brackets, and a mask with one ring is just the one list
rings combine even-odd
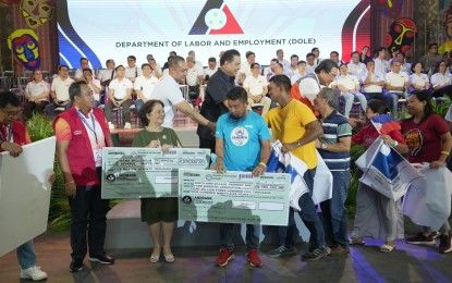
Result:
{"label": "black trousers of the man in red vest beside the checks", "polygon": [[[75,198],[69,197],[71,206],[71,247],[73,259],[83,260],[89,246],[89,256],[103,254],[109,200],[100,198],[100,184],[77,186]],[[88,243],[86,243],[88,231]]]}

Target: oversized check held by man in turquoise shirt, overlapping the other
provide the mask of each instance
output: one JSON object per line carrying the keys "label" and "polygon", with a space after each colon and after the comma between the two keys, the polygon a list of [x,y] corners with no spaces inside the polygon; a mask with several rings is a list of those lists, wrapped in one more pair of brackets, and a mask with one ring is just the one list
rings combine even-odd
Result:
{"label": "oversized check held by man in turquoise shirt, overlapping the other", "polygon": [[290,175],[179,170],[179,218],[200,222],[288,225]]}

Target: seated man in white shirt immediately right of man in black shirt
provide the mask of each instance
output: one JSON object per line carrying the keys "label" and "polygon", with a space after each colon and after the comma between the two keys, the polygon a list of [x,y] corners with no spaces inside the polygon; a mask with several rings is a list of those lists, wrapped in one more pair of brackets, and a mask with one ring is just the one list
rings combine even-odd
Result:
{"label": "seated man in white shirt immediately right of man in black shirt", "polygon": [[260,65],[258,63],[252,64],[252,75],[245,78],[243,88],[248,94],[248,107],[253,108],[256,103],[262,104],[262,115],[270,109],[271,99],[267,97],[268,82],[259,75]]}

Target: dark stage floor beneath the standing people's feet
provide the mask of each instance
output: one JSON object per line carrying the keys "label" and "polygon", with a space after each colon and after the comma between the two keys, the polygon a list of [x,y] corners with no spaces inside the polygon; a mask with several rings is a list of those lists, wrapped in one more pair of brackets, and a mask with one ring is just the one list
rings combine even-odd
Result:
{"label": "dark stage floor beneath the standing people's feet", "polygon": [[[411,223],[405,231],[417,232]],[[236,230],[237,232],[237,230]],[[219,236],[212,235],[212,236]],[[437,239],[437,245],[438,245]],[[174,263],[150,263],[148,249],[113,249],[114,266],[90,263],[84,269],[69,272],[71,248],[69,232],[47,232],[35,239],[37,264],[45,270],[49,282],[451,282],[452,253],[438,254],[435,247],[412,246],[396,241],[391,254],[378,251],[381,242],[366,241],[366,246],[351,247],[350,255],[331,256],[318,261],[301,261],[306,245],[298,245],[296,256],[270,258],[261,246],[264,261],[260,268],[246,263],[243,245],[236,247],[235,258],[227,267],[216,267],[215,247],[175,247]],[[15,251],[0,258],[0,282],[17,282],[20,268]],[[28,282],[28,281],[23,281]]]}

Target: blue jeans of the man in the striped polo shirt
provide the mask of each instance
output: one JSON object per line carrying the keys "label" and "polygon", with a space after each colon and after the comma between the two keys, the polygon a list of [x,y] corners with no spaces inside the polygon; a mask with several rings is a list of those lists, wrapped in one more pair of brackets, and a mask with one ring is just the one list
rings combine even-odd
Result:
{"label": "blue jeans of the man in the striped polo shirt", "polygon": [[332,171],[332,198],[320,202],[325,232],[332,245],[349,246],[349,217],[345,200],[349,194],[350,171]]}

